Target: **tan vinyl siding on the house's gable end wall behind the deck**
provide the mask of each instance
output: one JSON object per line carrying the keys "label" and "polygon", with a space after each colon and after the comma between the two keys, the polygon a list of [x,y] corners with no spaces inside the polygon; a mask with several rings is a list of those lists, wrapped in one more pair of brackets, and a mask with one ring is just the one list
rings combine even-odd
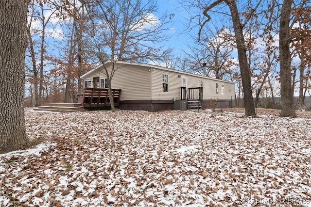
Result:
{"label": "tan vinyl siding on the house's gable end wall behind the deck", "polygon": [[[113,78],[112,88],[121,89],[120,100],[150,100],[151,99],[151,80],[150,68],[141,67],[138,65],[118,65]],[[104,70],[103,67],[100,68]],[[109,73],[111,67],[108,67]],[[105,78],[101,73],[100,79]],[[84,80],[93,80],[93,77],[98,76],[96,72],[88,74]]]}

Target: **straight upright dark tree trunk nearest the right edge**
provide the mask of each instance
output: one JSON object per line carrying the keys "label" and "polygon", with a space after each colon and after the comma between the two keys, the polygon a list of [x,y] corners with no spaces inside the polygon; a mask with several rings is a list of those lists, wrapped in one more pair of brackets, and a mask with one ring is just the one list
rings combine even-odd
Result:
{"label": "straight upright dark tree trunk nearest the right edge", "polygon": [[291,73],[291,52],[290,52],[290,34],[289,26],[290,14],[292,11],[293,0],[284,0],[280,17],[279,28],[279,60],[280,60],[280,82],[281,82],[281,114],[282,117],[295,116],[294,110],[294,90],[292,88]]}

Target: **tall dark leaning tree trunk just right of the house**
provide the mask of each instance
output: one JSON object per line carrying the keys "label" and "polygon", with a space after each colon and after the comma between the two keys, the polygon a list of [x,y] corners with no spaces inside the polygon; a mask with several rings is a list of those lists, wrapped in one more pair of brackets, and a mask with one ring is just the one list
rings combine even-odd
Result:
{"label": "tall dark leaning tree trunk just right of the house", "polygon": [[236,37],[239,64],[240,64],[241,77],[242,77],[243,94],[244,94],[245,116],[255,116],[256,113],[255,113],[253,93],[252,93],[250,70],[247,64],[245,40],[244,40],[243,28],[241,25],[239,11],[238,11],[235,0],[226,0],[225,2],[230,8],[233,28],[234,28],[235,37]]}

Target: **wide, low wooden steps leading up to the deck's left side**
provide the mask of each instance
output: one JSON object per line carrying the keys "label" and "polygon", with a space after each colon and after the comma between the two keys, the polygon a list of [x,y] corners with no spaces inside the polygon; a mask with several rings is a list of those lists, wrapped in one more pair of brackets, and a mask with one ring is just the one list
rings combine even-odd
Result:
{"label": "wide, low wooden steps leading up to the deck's left side", "polygon": [[75,112],[75,111],[86,111],[83,104],[79,103],[50,103],[43,104],[37,108],[35,111],[55,111],[55,112]]}

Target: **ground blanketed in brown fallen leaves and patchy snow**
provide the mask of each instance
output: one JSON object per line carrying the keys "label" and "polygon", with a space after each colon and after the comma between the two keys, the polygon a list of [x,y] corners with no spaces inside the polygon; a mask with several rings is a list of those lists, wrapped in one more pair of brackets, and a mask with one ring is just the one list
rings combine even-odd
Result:
{"label": "ground blanketed in brown fallen leaves and patchy snow", "polygon": [[311,119],[277,111],[25,110],[0,206],[311,206]]}

